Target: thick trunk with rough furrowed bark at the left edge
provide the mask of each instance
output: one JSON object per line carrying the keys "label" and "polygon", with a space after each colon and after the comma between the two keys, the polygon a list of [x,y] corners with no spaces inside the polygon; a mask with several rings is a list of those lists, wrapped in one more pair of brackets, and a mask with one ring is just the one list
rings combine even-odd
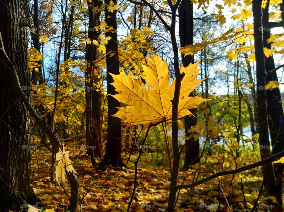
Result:
{"label": "thick trunk with rough furrowed bark at the left edge", "polygon": [[[0,2],[0,32],[7,55],[18,70],[21,86],[28,88],[29,70],[23,2]],[[2,53],[0,57],[2,57]],[[11,82],[13,71],[0,60],[0,211],[22,210],[22,204],[36,204],[30,182],[30,116]],[[24,90],[24,89],[23,89]],[[30,96],[29,89],[24,90]]]}

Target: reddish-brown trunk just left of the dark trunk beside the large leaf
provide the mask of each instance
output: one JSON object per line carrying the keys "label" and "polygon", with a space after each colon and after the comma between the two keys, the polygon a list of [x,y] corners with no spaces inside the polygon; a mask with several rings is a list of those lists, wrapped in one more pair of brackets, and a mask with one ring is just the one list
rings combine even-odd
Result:
{"label": "reddish-brown trunk just left of the dark trunk beside the large leaf", "polygon": [[[89,28],[88,38],[93,41],[99,40],[99,31],[95,31],[95,26],[100,24],[101,11],[94,13],[94,7],[100,7],[101,1],[88,1],[89,14]],[[88,44],[86,49],[87,69],[85,71],[85,91],[86,91],[86,144],[95,148],[87,148],[88,155],[91,155],[91,161],[94,165],[96,163],[95,157],[102,157],[102,139],[101,139],[101,102],[102,93],[100,88],[94,85],[100,83],[99,75],[97,73],[98,67],[96,60],[99,59],[98,46]]]}

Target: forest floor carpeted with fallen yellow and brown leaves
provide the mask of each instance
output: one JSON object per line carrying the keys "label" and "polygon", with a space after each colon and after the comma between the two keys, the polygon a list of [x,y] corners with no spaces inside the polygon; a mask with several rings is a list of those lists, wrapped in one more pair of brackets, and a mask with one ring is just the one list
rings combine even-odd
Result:
{"label": "forest floor carpeted with fallen yellow and brown leaves", "polygon": [[[80,175],[79,203],[82,203],[82,211],[126,211],[133,190],[134,161],[137,155],[130,158],[127,167],[108,169],[99,164],[92,166],[90,157],[82,150],[80,152],[79,145],[74,145],[74,149],[73,144],[70,143],[67,149],[71,150],[70,159]],[[41,200],[42,207],[53,209],[53,211],[69,211],[69,197],[58,183],[50,180],[50,160],[51,153],[44,147],[36,149],[36,155],[33,152],[31,182],[34,183],[31,186]],[[180,171],[178,183],[192,183],[219,171],[218,168],[220,167],[216,163],[209,166],[201,165],[196,170]],[[228,175],[220,178],[222,182],[221,211],[230,211],[226,199],[232,211],[246,210],[241,193],[241,178],[244,182],[247,207],[253,207],[262,183],[262,176],[258,172],[261,170],[251,170],[244,172],[243,175]],[[176,201],[176,212],[218,211],[218,183],[219,180],[215,179],[193,189],[180,190]],[[169,186],[170,170],[166,166],[149,165],[147,156],[143,155],[138,163],[138,184],[130,211],[166,211]],[[66,192],[70,193],[68,186],[66,186]],[[265,201],[263,196],[259,203],[262,201]],[[80,211],[80,206],[78,209]],[[267,210],[267,208],[263,209]]]}

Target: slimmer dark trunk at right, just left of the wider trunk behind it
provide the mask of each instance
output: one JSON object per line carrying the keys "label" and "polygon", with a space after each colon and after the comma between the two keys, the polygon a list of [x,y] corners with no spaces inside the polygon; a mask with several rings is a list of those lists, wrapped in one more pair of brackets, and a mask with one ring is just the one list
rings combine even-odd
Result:
{"label": "slimmer dark trunk at right, just left of the wider trunk behind it", "polygon": [[[267,120],[267,102],[266,102],[266,72],[265,61],[263,52],[263,36],[261,29],[262,26],[262,0],[252,1],[252,11],[254,17],[254,43],[255,43],[255,59],[256,59],[256,109],[258,117],[258,132],[259,132],[259,145],[264,147],[260,148],[261,159],[265,159],[271,155],[269,133],[268,133],[268,120]],[[277,197],[276,180],[272,163],[262,166],[263,175],[267,176],[264,180],[264,188],[267,196]],[[274,207],[271,211],[282,211],[282,205],[272,203]]]}

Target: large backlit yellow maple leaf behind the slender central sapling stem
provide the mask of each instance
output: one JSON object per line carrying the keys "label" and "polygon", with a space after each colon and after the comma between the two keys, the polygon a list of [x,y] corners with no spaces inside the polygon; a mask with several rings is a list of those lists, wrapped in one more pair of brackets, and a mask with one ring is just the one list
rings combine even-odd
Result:
{"label": "large backlit yellow maple leaf behind the slender central sapling stem", "polygon": [[[167,60],[162,60],[159,55],[152,53],[147,57],[148,66],[143,65],[144,79],[147,86],[140,78],[135,78],[129,71],[125,76],[123,73],[118,75],[111,74],[117,94],[111,95],[119,102],[129,106],[120,107],[113,116],[127,122],[128,126],[144,124],[144,128],[149,127],[150,123],[155,125],[172,119],[172,102],[175,90],[175,79],[170,85],[170,73]],[[180,98],[178,106],[178,119],[187,115],[192,115],[189,109],[196,108],[200,103],[209,99],[200,96],[189,96],[196,86],[204,79],[196,79],[199,69],[197,63],[190,64],[188,67],[182,66],[181,73],[185,76],[181,83]]]}

